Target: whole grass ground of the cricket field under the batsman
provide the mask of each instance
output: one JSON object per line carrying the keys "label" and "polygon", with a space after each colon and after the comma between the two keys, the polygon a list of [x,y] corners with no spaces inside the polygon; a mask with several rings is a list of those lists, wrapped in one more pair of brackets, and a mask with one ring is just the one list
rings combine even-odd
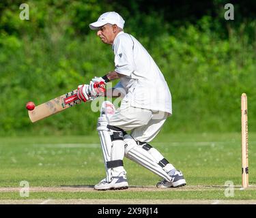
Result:
{"label": "whole grass ground of the cricket field under the batsman", "polygon": [[[104,178],[97,136],[1,138],[0,200],[256,200],[256,134],[249,133],[251,186],[245,190],[240,141],[239,133],[159,134],[152,146],[182,170],[186,187],[156,189],[157,175],[124,159],[130,189],[94,191]],[[20,181],[29,183],[27,198],[20,197]],[[228,184],[235,186],[233,195]]]}

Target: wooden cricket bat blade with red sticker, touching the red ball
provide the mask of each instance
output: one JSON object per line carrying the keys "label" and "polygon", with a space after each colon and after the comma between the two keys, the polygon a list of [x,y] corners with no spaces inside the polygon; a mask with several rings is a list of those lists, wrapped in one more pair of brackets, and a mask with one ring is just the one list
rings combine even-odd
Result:
{"label": "wooden cricket bat blade with red sticker, touching the red ball", "polygon": [[29,110],[29,119],[32,123],[40,121],[48,116],[57,114],[62,110],[66,110],[76,104],[81,104],[81,100],[76,95],[77,90],[71,91],[48,102],[36,106],[33,110]]}

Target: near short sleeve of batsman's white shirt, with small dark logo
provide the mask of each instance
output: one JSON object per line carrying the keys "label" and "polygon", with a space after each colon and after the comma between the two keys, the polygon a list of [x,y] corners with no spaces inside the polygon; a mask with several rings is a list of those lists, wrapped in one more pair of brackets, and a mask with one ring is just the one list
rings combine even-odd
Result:
{"label": "near short sleeve of batsman's white shirt, with small dark logo", "polygon": [[115,44],[115,72],[130,76],[135,70],[133,57],[133,42],[131,38],[122,36]]}

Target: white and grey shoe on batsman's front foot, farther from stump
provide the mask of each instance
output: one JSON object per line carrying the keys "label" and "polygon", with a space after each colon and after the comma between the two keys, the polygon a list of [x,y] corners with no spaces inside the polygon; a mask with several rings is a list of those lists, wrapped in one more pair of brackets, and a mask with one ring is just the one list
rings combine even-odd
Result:
{"label": "white and grey shoe on batsman's front foot, farther from stump", "polygon": [[128,189],[128,182],[124,176],[113,176],[110,183],[106,182],[106,178],[94,186],[94,189],[99,191]]}

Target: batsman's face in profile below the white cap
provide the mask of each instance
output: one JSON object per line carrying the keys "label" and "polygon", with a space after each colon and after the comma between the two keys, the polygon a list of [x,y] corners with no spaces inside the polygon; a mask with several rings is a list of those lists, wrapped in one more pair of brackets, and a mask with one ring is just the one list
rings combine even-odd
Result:
{"label": "batsman's face in profile below the white cap", "polygon": [[113,44],[115,40],[115,25],[106,24],[99,27],[97,35],[100,37],[101,41],[106,44]]}

